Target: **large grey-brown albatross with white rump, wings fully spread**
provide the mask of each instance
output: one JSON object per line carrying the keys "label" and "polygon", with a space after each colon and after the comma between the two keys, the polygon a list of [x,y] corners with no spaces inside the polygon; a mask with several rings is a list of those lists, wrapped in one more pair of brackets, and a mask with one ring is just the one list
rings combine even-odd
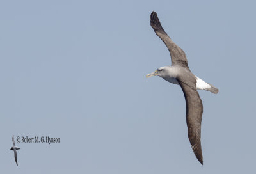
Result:
{"label": "large grey-brown albatross with white rump, wings fully spread", "polygon": [[198,161],[203,164],[203,155],[201,148],[201,121],[203,114],[203,104],[197,90],[207,90],[212,93],[218,93],[218,88],[212,84],[206,83],[194,75],[189,67],[185,52],[176,45],[165,33],[156,12],[150,15],[150,25],[155,33],[168,48],[172,66],[158,68],[155,72],[148,74],[147,77],[159,76],[164,80],[178,84],[182,88],[186,100],[186,120],[188,125],[188,138]]}

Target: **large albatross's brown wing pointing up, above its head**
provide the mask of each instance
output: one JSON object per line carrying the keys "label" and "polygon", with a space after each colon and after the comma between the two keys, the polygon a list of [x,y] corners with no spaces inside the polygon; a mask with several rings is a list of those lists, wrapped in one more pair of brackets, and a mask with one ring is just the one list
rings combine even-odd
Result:
{"label": "large albatross's brown wing pointing up, above its head", "polygon": [[163,42],[165,43],[166,47],[170,51],[171,58],[172,58],[172,65],[180,65],[182,67],[185,67],[189,70],[188,67],[188,60],[186,58],[185,52],[180,49],[178,45],[176,45],[171,38],[165,33],[163,27],[161,26],[161,23],[157,17],[156,12],[152,12],[150,15],[150,25],[154,29],[155,33]]}

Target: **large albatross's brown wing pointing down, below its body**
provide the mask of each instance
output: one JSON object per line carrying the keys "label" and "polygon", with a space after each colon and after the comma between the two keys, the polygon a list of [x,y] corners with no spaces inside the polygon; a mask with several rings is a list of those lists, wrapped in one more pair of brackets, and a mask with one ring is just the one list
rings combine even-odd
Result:
{"label": "large albatross's brown wing pointing down, below its body", "polygon": [[[189,78],[191,80],[191,78]],[[203,104],[196,90],[196,80],[177,79],[182,88],[186,100],[186,120],[188,125],[188,138],[198,161],[203,164],[201,148],[201,121]],[[186,83],[185,83],[186,82]]]}

